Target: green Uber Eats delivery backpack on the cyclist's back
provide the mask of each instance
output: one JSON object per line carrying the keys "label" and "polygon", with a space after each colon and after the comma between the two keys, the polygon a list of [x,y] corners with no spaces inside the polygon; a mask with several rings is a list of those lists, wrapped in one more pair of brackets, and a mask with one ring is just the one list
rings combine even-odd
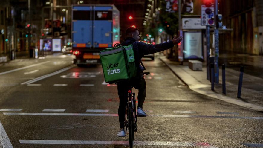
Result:
{"label": "green Uber Eats delivery backpack on the cyclist's back", "polygon": [[106,83],[130,80],[137,74],[132,45],[106,48],[100,52],[100,60]]}

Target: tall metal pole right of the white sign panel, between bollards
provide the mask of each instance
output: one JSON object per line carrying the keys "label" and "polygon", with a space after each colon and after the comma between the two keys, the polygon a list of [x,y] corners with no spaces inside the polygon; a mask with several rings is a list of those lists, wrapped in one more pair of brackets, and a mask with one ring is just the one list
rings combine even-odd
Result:
{"label": "tall metal pole right of the white sign panel, between bollards", "polygon": [[214,18],[215,18],[215,83],[219,83],[219,68],[218,68],[218,56],[219,56],[219,33],[218,28],[216,27],[218,15],[218,0],[215,0],[215,11],[214,11]]}

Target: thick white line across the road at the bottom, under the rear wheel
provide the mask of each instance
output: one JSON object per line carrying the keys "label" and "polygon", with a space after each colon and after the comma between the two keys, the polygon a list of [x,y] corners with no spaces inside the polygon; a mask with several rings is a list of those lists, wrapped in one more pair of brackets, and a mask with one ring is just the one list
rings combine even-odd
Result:
{"label": "thick white line across the road at the bottom, under the rear wheel", "polygon": [[[129,145],[129,141],[88,141],[88,140],[19,140],[21,144],[103,144]],[[134,145],[161,145],[161,146],[198,146],[201,148],[216,148],[204,142],[172,142],[172,141],[133,141]]]}

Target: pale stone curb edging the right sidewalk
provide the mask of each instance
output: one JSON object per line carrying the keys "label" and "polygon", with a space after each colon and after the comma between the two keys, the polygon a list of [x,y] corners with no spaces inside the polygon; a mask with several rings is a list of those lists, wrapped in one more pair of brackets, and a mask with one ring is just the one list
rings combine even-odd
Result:
{"label": "pale stone curb edging the right sidewalk", "polygon": [[255,111],[259,111],[259,112],[262,112],[263,111],[263,107],[262,106],[258,106],[258,105],[254,105],[252,103],[247,103],[247,102],[244,102],[244,101],[241,101],[241,100],[237,100],[235,98],[231,98],[231,97],[227,97],[227,96],[224,96],[222,94],[218,94],[218,93],[215,93],[213,91],[204,91],[204,90],[201,90],[200,88],[195,88],[194,85],[191,85],[189,86],[170,66],[169,64],[167,64],[163,59],[159,58],[186,86],[188,86],[189,89],[191,89],[192,91],[195,91],[199,94],[203,94],[205,96],[208,96],[208,97],[212,97],[212,98],[215,98],[215,99],[218,99],[218,100],[222,100],[222,101],[225,101],[225,102],[228,102],[228,103],[232,103],[232,104],[235,104],[235,105],[238,105],[238,106],[242,106],[242,107],[246,107],[248,109],[252,109],[252,110],[255,110]]}

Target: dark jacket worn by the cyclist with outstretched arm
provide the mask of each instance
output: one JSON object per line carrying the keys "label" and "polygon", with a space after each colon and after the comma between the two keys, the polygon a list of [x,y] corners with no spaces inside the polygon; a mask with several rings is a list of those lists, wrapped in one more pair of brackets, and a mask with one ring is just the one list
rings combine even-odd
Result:
{"label": "dark jacket worn by the cyclist with outstretched arm", "polygon": [[143,66],[140,64],[140,61],[144,55],[147,54],[154,54],[156,52],[164,51],[170,49],[174,46],[172,41],[161,43],[161,44],[146,44],[144,42],[135,41],[132,37],[127,37],[121,45],[127,46],[132,44],[134,50],[134,57],[135,57],[135,65],[138,70],[138,74],[142,75],[143,73]]}

